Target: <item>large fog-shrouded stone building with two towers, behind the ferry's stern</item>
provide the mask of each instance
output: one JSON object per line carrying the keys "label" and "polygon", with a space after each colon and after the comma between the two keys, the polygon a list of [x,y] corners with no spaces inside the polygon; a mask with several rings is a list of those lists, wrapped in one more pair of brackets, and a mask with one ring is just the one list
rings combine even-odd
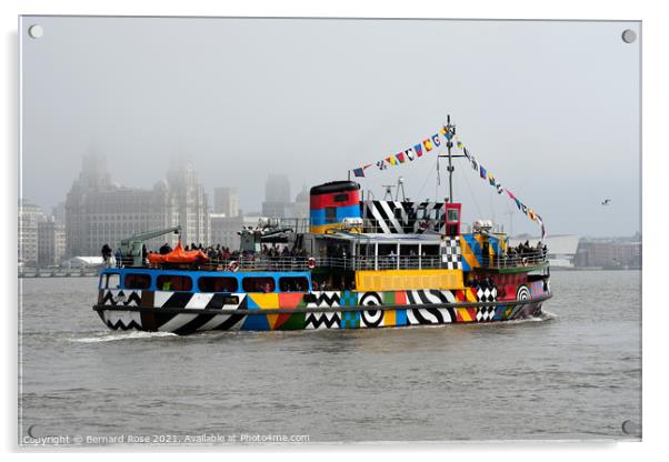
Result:
{"label": "large fog-shrouded stone building with two towers, behind the ferry's stern", "polygon": [[[117,249],[123,238],[178,224],[184,244],[208,244],[207,201],[189,163],[173,163],[164,180],[144,190],[112,183],[104,157],[86,155],[66,201],[67,255],[98,255],[104,243]],[[174,245],[176,240],[168,234],[147,241],[147,247],[158,249],[166,241]]]}

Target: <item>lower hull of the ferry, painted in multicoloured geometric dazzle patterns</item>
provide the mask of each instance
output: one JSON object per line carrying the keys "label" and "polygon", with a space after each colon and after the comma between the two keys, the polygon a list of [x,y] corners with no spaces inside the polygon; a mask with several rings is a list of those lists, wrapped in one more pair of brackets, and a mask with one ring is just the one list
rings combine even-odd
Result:
{"label": "lower hull of the ferry, painted in multicoloured geometric dazzle patterns", "polygon": [[503,293],[497,288],[267,294],[101,290],[93,309],[110,329],[190,334],[500,322],[540,314],[550,297],[543,281]]}

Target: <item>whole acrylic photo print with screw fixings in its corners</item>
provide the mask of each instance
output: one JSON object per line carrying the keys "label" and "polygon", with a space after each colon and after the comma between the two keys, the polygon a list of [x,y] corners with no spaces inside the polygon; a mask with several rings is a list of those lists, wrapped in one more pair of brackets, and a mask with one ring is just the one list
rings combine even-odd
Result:
{"label": "whole acrylic photo print with screw fixings in its corners", "polygon": [[641,438],[639,21],[19,22],[20,444]]}

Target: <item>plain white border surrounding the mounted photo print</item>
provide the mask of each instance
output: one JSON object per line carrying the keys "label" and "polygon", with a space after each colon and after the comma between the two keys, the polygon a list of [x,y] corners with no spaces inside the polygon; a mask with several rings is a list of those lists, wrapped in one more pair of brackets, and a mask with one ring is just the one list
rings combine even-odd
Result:
{"label": "plain white border surrounding the mounted photo print", "polygon": [[[2,262],[2,288],[4,303],[1,305],[4,328],[4,345],[2,355],[6,366],[4,396],[2,400],[1,434],[4,450],[16,451],[17,445],[17,279],[14,243],[17,242],[17,171],[18,171],[18,40],[17,24],[19,14],[121,14],[121,16],[291,16],[291,17],[381,17],[381,18],[496,18],[496,19],[599,19],[599,20],[642,20],[643,21],[643,311],[646,322],[643,325],[643,443],[618,444],[556,444],[556,443],[492,443],[485,445],[400,445],[373,446],[385,452],[383,458],[397,456],[405,459],[408,450],[418,450],[421,458],[439,458],[443,454],[435,452],[438,448],[448,451],[448,455],[469,455],[477,459],[498,458],[502,460],[563,460],[566,456],[586,455],[588,458],[606,458],[607,460],[625,460],[631,458],[647,458],[656,453],[666,453],[665,432],[667,428],[667,395],[669,386],[666,380],[667,368],[667,335],[665,324],[667,317],[666,302],[660,299],[666,293],[662,290],[665,274],[659,274],[662,263],[667,260],[666,241],[667,228],[663,214],[667,210],[663,197],[667,173],[665,157],[667,150],[667,129],[662,112],[667,111],[667,72],[666,44],[669,43],[667,16],[659,1],[591,1],[562,0],[562,1],[467,1],[467,2],[430,2],[412,1],[378,1],[363,2],[361,0],[339,0],[327,2],[311,1],[204,1],[164,0],[149,2],[140,0],[116,0],[91,2],[84,0],[6,0],[0,2],[0,21],[4,43],[2,88],[4,111],[2,111],[0,127],[6,149],[2,169],[4,194],[2,194],[2,212],[4,227],[2,239],[6,259]],[[663,148],[663,149],[662,149]],[[661,279],[660,279],[661,278]],[[659,322],[658,322],[659,321]],[[340,459],[345,448],[334,446],[333,453],[318,455],[321,458]],[[273,448],[257,448],[257,451],[268,452]],[[331,451],[329,446],[311,446],[312,450],[322,452]],[[350,450],[347,446],[347,451]],[[369,452],[372,446],[352,446],[356,451]],[[291,460],[309,456],[306,451],[290,454],[281,451],[281,456]],[[162,451],[161,451],[162,452]],[[244,451],[248,452],[248,451]],[[166,454],[163,454],[166,455]],[[203,455],[203,454],[202,454]],[[207,454],[213,455],[216,454]],[[268,454],[269,455],[269,454]],[[60,454],[59,456],[63,456]],[[73,455],[64,455],[68,459]],[[87,456],[87,454],[76,454]],[[96,454],[96,458],[116,456],[113,453]],[[234,458],[238,458],[234,455]],[[271,455],[272,458],[274,455]]]}

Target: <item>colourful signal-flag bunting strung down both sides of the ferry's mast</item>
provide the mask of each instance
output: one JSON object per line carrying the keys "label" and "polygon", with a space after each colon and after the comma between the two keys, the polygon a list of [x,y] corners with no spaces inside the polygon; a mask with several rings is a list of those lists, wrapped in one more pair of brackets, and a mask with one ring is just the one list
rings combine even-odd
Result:
{"label": "colourful signal-flag bunting strung down both sides of the ferry's mast", "polygon": [[530,220],[539,223],[541,227],[541,239],[546,239],[546,227],[543,225],[543,220],[541,217],[537,214],[532,209],[527,207],[527,204],[522,203],[516,194],[509,191],[507,188],[503,188],[502,184],[495,178],[492,172],[488,171],[477,159],[475,155],[467,150],[462,141],[458,137],[455,137],[453,133],[449,130],[448,127],[442,127],[439,132],[428,137],[422,140],[420,143],[413,144],[413,147],[406,149],[397,154],[388,155],[376,163],[368,163],[362,167],[358,167],[352,170],[353,174],[358,178],[365,177],[365,171],[371,167],[377,167],[379,170],[386,170],[389,167],[401,165],[407,162],[412,162],[419,158],[426,157],[429,152],[435,150],[435,148],[439,148],[442,141],[450,141],[455,138],[456,147],[462,151],[465,157],[469,160],[471,168],[478,172],[479,177],[487,181],[491,187],[497,190],[498,194],[507,193],[509,199],[516,202],[516,207],[523,214],[526,214]]}

